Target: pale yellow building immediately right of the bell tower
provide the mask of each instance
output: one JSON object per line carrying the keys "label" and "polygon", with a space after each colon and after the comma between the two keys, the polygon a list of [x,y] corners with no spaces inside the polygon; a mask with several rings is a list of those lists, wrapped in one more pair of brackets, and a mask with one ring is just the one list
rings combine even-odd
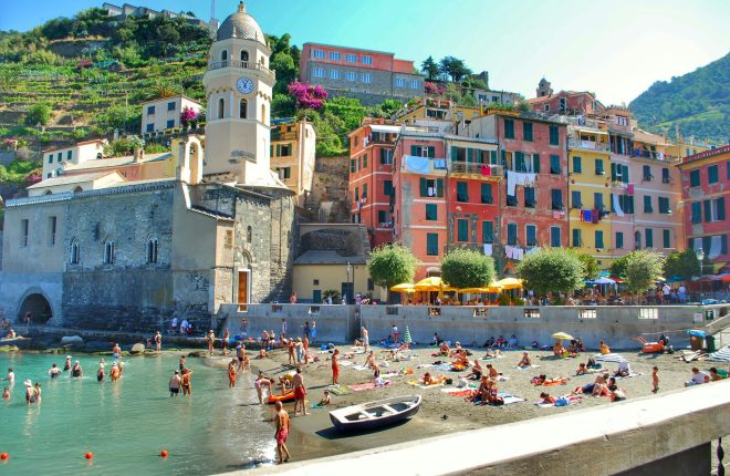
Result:
{"label": "pale yellow building immediately right of the bell tower", "polygon": [[312,193],[315,155],[316,133],[311,123],[300,121],[272,127],[271,169],[296,194],[300,206]]}

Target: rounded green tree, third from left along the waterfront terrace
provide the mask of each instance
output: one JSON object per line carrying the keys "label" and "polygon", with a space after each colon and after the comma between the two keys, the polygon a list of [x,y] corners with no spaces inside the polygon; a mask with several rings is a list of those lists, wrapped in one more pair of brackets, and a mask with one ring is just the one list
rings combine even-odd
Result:
{"label": "rounded green tree, third from left along the waterfront terrace", "polygon": [[563,248],[542,248],[525,255],[517,271],[525,287],[538,293],[572,292],[583,286],[581,260]]}

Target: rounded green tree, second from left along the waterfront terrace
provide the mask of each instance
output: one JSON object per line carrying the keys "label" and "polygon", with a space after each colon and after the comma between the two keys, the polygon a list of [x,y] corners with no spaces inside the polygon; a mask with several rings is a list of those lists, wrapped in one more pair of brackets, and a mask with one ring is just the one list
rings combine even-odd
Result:
{"label": "rounded green tree, second from left along the waterfront terrace", "polygon": [[458,248],[441,261],[441,278],[455,288],[480,288],[494,280],[494,261],[480,252]]}

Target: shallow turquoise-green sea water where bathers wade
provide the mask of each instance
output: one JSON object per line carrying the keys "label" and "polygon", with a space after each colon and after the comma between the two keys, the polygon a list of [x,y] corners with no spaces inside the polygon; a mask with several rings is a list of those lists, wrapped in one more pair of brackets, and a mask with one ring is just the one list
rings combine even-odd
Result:
{"label": "shallow turquoise-green sea water where bathers wade", "polygon": [[[223,369],[188,359],[192,397],[171,399],[167,382],[177,356],[128,358],[116,383],[108,375],[96,382],[98,358],[74,360],[84,369],[81,380],[69,372],[48,376],[52,363],[63,366],[63,355],[0,354],[0,376],[9,366],[15,371],[12,399],[0,402],[0,453],[10,455],[0,473],[204,475],[273,458],[273,428],[262,417],[249,373],[231,390]],[[41,382],[40,405],[27,405],[27,379]],[[94,454],[91,463],[86,452]]]}

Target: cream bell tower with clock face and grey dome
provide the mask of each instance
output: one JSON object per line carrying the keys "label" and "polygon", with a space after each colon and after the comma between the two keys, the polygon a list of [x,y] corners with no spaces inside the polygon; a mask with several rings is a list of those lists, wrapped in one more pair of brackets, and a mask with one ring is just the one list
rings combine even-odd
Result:
{"label": "cream bell tower with clock face and grey dome", "polygon": [[209,180],[279,186],[270,165],[270,115],[274,72],[259,23],[238,10],[221,23],[202,77],[208,110],[206,167]]}

